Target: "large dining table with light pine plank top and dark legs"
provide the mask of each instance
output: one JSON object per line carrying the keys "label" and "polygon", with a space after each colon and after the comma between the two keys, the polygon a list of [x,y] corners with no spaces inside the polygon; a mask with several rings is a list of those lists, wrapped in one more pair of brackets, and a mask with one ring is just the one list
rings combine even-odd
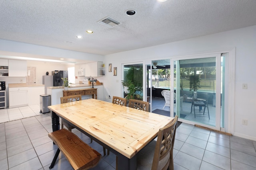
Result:
{"label": "large dining table with light pine plank top and dark legs", "polygon": [[161,127],[174,118],[96,99],[48,106],[52,130],[65,119],[118,156],[118,167],[136,170],[137,153],[157,137]]}

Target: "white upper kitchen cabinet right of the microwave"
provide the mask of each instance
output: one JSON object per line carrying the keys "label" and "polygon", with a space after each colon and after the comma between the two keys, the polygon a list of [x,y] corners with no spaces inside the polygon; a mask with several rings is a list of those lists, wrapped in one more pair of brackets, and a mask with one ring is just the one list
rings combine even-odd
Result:
{"label": "white upper kitchen cabinet right of the microwave", "polygon": [[100,70],[102,67],[103,62],[97,61],[97,62],[92,62],[92,63],[86,63],[85,64],[85,76],[89,77],[98,77],[102,76],[100,75]]}

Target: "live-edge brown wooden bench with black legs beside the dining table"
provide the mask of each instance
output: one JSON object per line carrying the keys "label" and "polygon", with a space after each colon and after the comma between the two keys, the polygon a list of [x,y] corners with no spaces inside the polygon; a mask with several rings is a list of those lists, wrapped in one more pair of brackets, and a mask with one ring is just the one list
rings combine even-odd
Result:
{"label": "live-edge brown wooden bench with black legs beside the dining table", "polygon": [[74,170],[88,170],[98,164],[101,154],[84,143],[74,133],[67,129],[60,129],[49,133],[48,136],[58,146],[58,150],[52,160],[50,169],[58,158],[60,151],[66,156]]}

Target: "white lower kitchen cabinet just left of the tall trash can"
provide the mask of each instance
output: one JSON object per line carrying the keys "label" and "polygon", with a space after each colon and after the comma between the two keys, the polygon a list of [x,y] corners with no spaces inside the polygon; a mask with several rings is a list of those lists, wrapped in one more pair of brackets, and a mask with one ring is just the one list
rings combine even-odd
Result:
{"label": "white lower kitchen cabinet just left of the tall trash can", "polygon": [[28,106],[39,105],[40,95],[45,94],[44,86],[28,87]]}

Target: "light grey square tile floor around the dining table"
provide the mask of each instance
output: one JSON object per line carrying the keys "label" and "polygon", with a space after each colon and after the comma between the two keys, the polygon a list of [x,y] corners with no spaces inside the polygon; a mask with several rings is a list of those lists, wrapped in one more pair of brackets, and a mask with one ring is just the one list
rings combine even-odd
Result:
{"label": "light grey square tile floor around the dining table", "polygon": [[[52,131],[51,117],[49,113],[40,114],[38,109],[35,109],[33,115],[33,108],[19,107],[16,111],[0,109],[0,120],[6,117],[6,111],[10,120],[0,123],[0,170],[49,169],[57,150],[48,137]],[[102,146],[96,142],[90,143],[90,139],[76,129],[72,132],[103,155]],[[230,137],[182,123],[176,131],[174,169],[256,170],[255,148],[256,141]],[[100,163],[93,169],[114,170],[115,161],[115,155],[110,153],[102,156]],[[53,170],[72,170],[72,167],[60,154]]]}

